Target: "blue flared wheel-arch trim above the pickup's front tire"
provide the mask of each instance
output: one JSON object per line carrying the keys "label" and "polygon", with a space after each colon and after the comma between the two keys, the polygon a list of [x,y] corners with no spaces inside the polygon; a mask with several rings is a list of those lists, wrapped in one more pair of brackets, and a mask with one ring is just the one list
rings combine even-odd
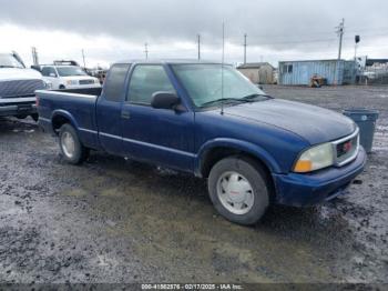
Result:
{"label": "blue flared wheel-arch trim above the pickup's front tire", "polygon": [[274,157],[272,157],[265,149],[261,148],[259,146],[243,140],[217,138],[205,142],[200,148],[194,165],[194,171],[196,174],[201,174],[202,161],[206,157],[206,153],[215,148],[231,148],[249,153],[264,162],[272,173],[282,172],[280,167]]}

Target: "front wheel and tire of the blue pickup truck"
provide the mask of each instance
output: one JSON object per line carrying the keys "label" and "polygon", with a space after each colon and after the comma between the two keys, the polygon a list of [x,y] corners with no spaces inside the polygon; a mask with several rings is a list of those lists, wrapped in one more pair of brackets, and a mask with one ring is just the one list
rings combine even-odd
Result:
{"label": "front wheel and tire of the blue pickup truck", "polygon": [[269,205],[270,180],[264,169],[248,158],[229,157],[218,161],[211,170],[207,185],[214,208],[238,224],[255,224]]}

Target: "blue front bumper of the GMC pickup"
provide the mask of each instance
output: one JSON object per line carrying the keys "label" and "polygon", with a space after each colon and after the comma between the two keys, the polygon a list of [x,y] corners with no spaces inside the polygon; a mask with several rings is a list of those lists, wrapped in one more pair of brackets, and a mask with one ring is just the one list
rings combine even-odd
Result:
{"label": "blue front bumper of the GMC pickup", "polygon": [[366,153],[359,147],[357,158],[340,168],[329,168],[309,174],[273,174],[276,201],[280,204],[304,207],[330,200],[363,172]]}

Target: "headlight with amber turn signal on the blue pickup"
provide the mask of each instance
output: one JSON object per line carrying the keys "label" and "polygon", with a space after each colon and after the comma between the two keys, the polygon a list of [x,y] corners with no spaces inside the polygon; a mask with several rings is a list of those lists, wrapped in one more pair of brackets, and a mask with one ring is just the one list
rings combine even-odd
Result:
{"label": "headlight with amber turn signal on the blue pickup", "polygon": [[306,173],[334,164],[331,143],[313,147],[302,153],[294,167],[294,172]]}

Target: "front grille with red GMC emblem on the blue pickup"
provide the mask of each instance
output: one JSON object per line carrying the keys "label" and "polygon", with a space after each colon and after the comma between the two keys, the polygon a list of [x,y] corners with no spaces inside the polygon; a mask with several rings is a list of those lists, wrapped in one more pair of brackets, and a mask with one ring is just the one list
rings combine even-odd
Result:
{"label": "front grille with red GMC emblem on the blue pickup", "polygon": [[353,161],[358,153],[359,147],[359,130],[357,129],[353,134],[344,139],[333,142],[335,159],[337,165],[344,165]]}

